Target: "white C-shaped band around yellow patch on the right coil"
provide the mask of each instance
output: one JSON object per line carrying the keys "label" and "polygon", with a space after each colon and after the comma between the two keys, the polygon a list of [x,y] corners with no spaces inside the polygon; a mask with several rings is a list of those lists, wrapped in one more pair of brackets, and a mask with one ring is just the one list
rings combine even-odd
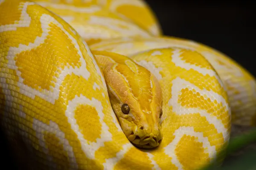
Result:
{"label": "white C-shaped band around yellow patch on the right coil", "polygon": [[202,95],[207,96],[211,101],[216,100],[218,103],[222,103],[222,105],[227,109],[230,110],[229,105],[225,101],[225,99],[216,94],[213,91],[207,91],[205,89],[200,90],[195,85],[187,82],[186,80],[176,78],[172,81],[172,98],[169,100],[169,106],[172,106],[172,111],[178,115],[182,114],[189,114],[189,113],[200,113],[201,116],[204,116],[210,124],[213,124],[217,129],[218,133],[222,133],[224,140],[227,141],[229,139],[229,134],[227,129],[224,127],[221,120],[218,120],[215,116],[212,116],[211,113],[207,113],[205,110],[201,110],[199,108],[183,108],[180,103],[178,103],[178,98],[181,93],[181,89],[189,88],[189,90],[195,89],[195,91],[199,92]]}

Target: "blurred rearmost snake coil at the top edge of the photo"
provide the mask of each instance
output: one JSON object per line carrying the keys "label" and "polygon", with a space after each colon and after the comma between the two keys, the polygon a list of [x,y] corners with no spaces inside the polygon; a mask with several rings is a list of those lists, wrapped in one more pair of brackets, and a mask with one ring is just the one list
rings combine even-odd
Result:
{"label": "blurred rearmost snake coil at the top edge of the photo", "polygon": [[[159,36],[160,25],[143,0],[34,0],[66,20],[83,38]],[[54,4],[54,5],[53,5]]]}

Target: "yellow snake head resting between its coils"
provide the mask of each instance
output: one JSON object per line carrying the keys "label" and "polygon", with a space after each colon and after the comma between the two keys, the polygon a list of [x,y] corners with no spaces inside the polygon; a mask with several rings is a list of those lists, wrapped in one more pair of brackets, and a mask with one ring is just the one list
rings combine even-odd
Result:
{"label": "yellow snake head resting between its coils", "polygon": [[132,60],[102,69],[113,111],[135,146],[157,147],[161,140],[162,91],[156,77]]}

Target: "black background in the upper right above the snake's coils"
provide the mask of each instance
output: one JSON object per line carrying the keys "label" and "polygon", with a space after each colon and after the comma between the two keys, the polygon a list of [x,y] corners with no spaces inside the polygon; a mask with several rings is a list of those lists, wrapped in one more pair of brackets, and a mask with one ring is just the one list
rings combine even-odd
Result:
{"label": "black background in the upper right above the snake's coils", "polygon": [[145,0],[163,34],[211,46],[256,76],[256,3],[246,1]]}

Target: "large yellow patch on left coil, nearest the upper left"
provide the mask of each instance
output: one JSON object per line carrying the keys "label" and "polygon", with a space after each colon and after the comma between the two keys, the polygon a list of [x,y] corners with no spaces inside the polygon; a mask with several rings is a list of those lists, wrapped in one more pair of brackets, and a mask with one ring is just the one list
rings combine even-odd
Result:
{"label": "large yellow patch on left coil, nearest the upper left", "polygon": [[[49,46],[51,48],[47,48]],[[67,35],[58,26],[50,24],[49,35],[44,43],[38,48],[18,54],[15,60],[18,70],[22,73],[23,84],[39,91],[49,91],[52,90],[50,87],[55,88],[61,69],[66,66],[79,68],[79,59],[76,48]]]}

